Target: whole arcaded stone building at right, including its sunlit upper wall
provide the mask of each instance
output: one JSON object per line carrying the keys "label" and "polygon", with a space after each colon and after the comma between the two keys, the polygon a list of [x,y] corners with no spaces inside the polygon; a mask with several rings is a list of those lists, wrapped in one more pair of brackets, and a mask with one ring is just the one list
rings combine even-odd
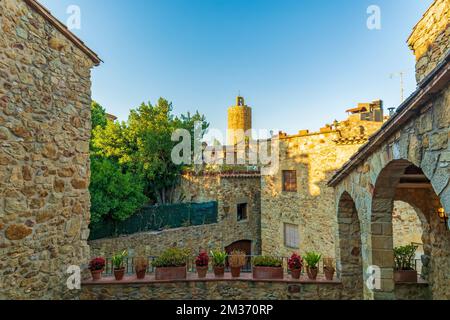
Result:
{"label": "whole arcaded stone building at right, including its sunlit upper wall", "polygon": [[[421,285],[434,299],[450,299],[449,22],[450,3],[436,0],[408,41],[417,59],[417,90],[329,182],[337,204],[339,275],[360,297],[395,298],[393,215],[395,201],[402,201],[421,224],[428,280]],[[372,265],[380,268],[375,290],[363,285]]]}

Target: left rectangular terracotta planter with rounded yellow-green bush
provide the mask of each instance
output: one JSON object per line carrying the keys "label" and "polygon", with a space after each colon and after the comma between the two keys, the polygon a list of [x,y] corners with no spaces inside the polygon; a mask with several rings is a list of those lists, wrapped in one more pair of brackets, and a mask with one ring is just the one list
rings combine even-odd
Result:
{"label": "left rectangular terracotta planter with rounded yellow-green bush", "polygon": [[170,248],[153,260],[156,280],[182,280],[186,279],[186,265],[189,251],[180,248]]}

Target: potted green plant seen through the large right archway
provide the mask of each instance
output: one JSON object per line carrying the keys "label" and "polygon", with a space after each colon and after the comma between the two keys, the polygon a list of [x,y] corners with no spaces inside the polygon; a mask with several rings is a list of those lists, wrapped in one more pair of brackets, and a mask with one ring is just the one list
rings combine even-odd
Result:
{"label": "potted green plant seen through the large right archway", "polygon": [[414,257],[416,256],[417,246],[407,245],[394,248],[395,259],[395,282],[417,282],[417,271],[414,270]]}

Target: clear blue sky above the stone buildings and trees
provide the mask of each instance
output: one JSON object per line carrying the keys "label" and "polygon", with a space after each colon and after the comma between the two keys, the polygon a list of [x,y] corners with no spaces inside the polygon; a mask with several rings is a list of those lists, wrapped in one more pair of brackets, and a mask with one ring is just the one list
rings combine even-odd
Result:
{"label": "clear blue sky above the stone buildings and trees", "polygon": [[[318,129],[358,102],[400,104],[416,87],[406,40],[431,0],[41,0],[104,63],[93,98],[126,120],[141,102],[165,97],[175,112],[199,110],[226,128],[240,91],[258,129]],[[369,30],[367,8],[381,9]]]}

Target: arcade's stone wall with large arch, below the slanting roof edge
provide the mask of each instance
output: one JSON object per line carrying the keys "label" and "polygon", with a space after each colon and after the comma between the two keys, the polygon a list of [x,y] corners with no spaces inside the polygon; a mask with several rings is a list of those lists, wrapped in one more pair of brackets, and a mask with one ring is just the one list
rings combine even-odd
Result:
{"label": "arcade's stone wall with large arch, below the slanting roof edge", "polygon": [[[424,252],[430,257],[429,275],[432,297],[450,298],[450,231],[437,216],[437,209],[450,211],[450,85],[422,106],[410,119],[348,172],[336,186],[336,196],[348,192],[356,204],[361,224],[363,270],[369,265],[386,266],[384,293],[393,290],[392,213],[394,201],[419,208],[426,221]],[[415,165],[431,182],[428,189],[396,189],[404,170]],[[379,221],[379,222],[377,222]],[[345,248],[338,248],[345,250]],[[366,292],[366,297],[372,293]],[[373,297],[373,296],[372,296]]]}

